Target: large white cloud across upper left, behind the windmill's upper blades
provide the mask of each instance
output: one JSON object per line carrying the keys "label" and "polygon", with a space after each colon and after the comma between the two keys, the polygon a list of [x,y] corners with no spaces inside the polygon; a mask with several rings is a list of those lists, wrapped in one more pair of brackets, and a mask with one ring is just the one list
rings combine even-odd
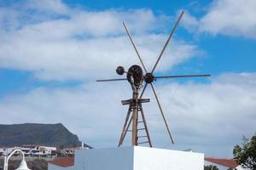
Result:
{"label": "large white cloud across upper left, behind the windmill's upper blades", "polygon": [[[40,8],[40,13],[28,16],[27,8]],[[166,28],[169,21],[150,9],[95,12],[69,8],[61,1],[44,1],[42,5],[28,1],[21,12],[13,10],[19,14],[15,18],[18,26],[0,31],[0,67],[32,71],[43,80],[85,80],[102,72],[109,77],[118,65],[125,63],[127,68],[138,63],[123,20],[150,67],[166,42],[165,34],[154,31]],[[179,40],[171,42],[169,49],[165,55],[170,62],[163,64],[167,70],[199,52],[195,45]]]}

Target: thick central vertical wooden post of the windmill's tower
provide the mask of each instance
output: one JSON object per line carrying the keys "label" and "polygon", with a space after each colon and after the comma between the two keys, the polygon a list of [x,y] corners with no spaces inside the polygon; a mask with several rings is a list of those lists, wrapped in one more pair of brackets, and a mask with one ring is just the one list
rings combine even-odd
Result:
{"label": "thick central vertical wooden post of the windmill's tower", "polygon": [[137,89],[133,88],[132,94],[132,145],[137,145],[137,109],[138,109],[138,93]]}

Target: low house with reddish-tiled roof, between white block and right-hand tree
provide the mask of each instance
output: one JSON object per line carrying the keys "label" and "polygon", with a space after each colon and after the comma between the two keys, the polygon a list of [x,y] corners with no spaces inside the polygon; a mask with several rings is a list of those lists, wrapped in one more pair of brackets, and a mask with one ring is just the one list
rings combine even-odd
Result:
{"label": "low house with reddish-tiled roof, between white block and right-hand tree", "polygon": [[220,159],[215,157],[205,157],[205,166],[216,166],[218,170],[236,169],[243,170],[243,168],[237,165],[234,159]]}

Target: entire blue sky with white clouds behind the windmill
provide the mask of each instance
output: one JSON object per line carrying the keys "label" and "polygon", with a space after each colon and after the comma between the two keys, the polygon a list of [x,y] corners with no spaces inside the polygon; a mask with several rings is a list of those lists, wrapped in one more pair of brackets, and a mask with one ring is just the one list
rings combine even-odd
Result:
{"label": "entire blue sky with white clouds behind the windmill", "polygon": [[242,135],[256,132],[255,8],[255,0],[0,0],[0,123],[61,122],[86,144],[115,147],[131,88],[95,80],[139,64],[122,22],[151,70],[184,10],[155,74],[212,77],[154,82],[174,145],[147,89],[152,143],[232,157]]}

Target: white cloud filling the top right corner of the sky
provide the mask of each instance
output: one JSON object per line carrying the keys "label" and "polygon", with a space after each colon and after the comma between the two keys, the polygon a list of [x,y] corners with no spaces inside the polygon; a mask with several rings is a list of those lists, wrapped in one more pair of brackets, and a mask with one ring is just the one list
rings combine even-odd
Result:
{"label": "white cloud filling the top right corner of the sky", "polygon": [[187,29],[196,27],[199,32],[212,35],[256,38],[256,1],[214,0],[207,14],[197,20],[189,14],[184,22]]}

